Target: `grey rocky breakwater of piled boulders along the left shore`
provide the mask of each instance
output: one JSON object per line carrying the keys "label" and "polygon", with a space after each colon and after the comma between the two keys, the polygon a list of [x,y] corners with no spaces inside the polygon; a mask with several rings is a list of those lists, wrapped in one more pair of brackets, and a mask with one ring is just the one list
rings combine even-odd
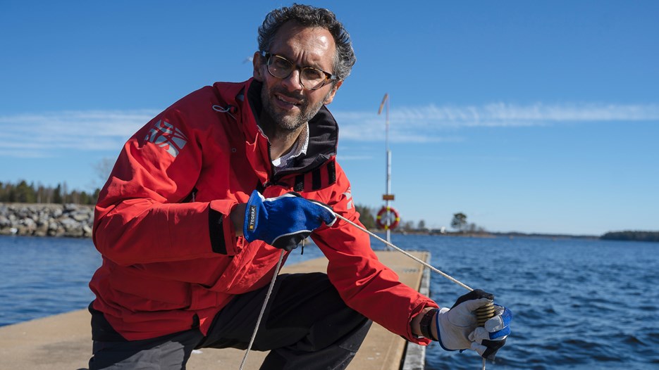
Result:
{"label": "grey rocky breakwater of piled boulders along the left shore", "polygon": [[91,205],[0,203],[0,235],[89,238],[93,221]]}

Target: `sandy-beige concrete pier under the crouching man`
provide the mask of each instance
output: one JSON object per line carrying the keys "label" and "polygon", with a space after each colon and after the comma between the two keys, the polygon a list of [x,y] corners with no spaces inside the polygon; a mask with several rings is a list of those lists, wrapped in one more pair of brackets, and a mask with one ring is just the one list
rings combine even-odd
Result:
{"label": "sandy-beige concrete pier under the crouching man", "polygon": [[[400,281],[420,289],[424,267],[398,252],[376,252],[378,258],[393,269]],[[428,260],[425,252],[412,253]],[[317,258],[284,267],[283,272],[325,272],[327,260]],[[426,274],[427,280],[427,274]],[[426,291],[422,293],[427,294]],[[383,307],[385,309],[385,307]],[[407,341],[385,328],[373,324],[349,369],[405,370],[423,369],[424,347],[409,345],[413,354],[405,360]],[[90,314],[78,310],[43,319],[0,327],[0,369],[11,370],[81,370],[87,369],[92,353]],[[192,353],[187,369],[238,369],[245,351],[202,349]],[[245,369],[259,369],[266,352],[250,352]]]}

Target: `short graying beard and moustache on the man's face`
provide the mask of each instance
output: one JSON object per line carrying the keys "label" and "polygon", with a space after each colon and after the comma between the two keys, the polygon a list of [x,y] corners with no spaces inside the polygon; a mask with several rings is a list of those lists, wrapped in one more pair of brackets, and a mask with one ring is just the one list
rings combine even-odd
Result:
{"label": "short graying beard and moustache on the man's face", "polygon": [[[271,125],[273,125],[272,128],[275,129],[275,132],[292,133],[297,131],[297,129],[305,123],[309,122],[309,120],[318,113],[331,92],[332,91],[330,90],[325,98],[312,106],[309,103],[309,99],[303,94],[290,93],[284,89],[277,89],[276,87],[268,89],[266,84],[264,84],[263,88],[261,88],[261,103],[265,112],[272,119]],[[273,100],[277,98],[276,94],[288,96],[300,101],[300,104],[297,106],[300,110],[295,112],[295,110],[282,110],[281,108],[278,108],[273,102]]]}

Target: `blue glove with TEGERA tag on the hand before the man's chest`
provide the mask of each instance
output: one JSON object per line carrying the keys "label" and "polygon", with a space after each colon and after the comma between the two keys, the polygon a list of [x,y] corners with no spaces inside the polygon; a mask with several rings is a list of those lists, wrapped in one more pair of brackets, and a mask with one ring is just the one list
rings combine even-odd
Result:
{"label": "blue glove with TEGERA tag on the hand before the man's chest", "polygon": [[247,241],[265,241],[290,251],[321,224],[332,226],[335,221],[332,208],[298,193],[264,198],[254,190],[245,207],[242,234]]}

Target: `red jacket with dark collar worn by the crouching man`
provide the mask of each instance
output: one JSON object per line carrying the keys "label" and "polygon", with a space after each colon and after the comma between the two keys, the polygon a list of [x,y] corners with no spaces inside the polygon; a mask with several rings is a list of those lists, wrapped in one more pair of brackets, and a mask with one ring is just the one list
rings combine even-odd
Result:
{"label": "red jacket with dark collar worn by the crouching man", "polygon": [[[128,340],[199,325],[234,295],[266,286],[281,250],[236,237],[228,218],[259,189],[297,191],[358,222],[350,182],[335,161],[338,127],[323,107],[309,122],[307,155],[274,172],[257,127],[259,82],[218,82],[185,96],[125,143],[101,190],[94,244],[103,264],[90,288],[94,308]],[[258,114],[256,114],[258,117]],[[378,262],[369,236],[339,220],[312,239],[347,305],[417,343],[409,320],[436,303]]]}

